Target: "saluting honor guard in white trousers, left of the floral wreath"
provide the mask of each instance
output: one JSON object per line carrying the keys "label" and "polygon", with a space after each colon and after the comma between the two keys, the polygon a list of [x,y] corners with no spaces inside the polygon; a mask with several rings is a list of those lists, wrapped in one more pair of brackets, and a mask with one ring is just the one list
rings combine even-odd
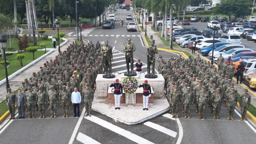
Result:
{"label": "saluting honor guard in white trousers, left of the floral wreath", "polygon": [[116,109],[120,110],[120,99],[121,99],[121,96],[123,95],[123,86],[122,84],[119,83],[119,79],[116,79],[116,81],[112,83],[110,87],[115,88],[115,91],[114,91],[115,105],[116,105],[115,110]]}

